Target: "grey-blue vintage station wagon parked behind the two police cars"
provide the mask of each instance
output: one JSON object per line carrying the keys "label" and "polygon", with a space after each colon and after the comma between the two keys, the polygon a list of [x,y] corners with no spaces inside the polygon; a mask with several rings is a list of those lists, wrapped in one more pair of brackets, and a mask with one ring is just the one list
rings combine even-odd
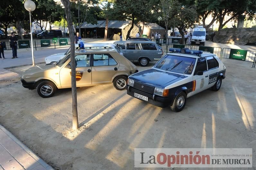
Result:
{"label": "grey-blue vintage station wagon parked behind the two police cars", "polygon": [[150,61],[158,61],[162,51],[158,49],[154,41],[115,41],[120,51],[131,62],[139,62],[142,67]]}

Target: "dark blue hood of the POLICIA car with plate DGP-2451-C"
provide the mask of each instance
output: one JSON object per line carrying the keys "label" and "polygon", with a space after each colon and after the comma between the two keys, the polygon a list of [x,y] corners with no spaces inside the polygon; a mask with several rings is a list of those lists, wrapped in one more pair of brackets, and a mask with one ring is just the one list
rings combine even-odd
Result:
{"label": "dark blue hood of the POLICIA car with plate DGP-2451-C", "polygon": [[134,81],[138,81],[141,83],[148,84],[150,86],[158,87],[158,88],[165,88],[166,86],[180,81],[187,76],[175,74],[171,72],[165,72],[156,70],[154,68],[144,70],[142,72],[138,72],[136,74],[131,75],[131,78]]}

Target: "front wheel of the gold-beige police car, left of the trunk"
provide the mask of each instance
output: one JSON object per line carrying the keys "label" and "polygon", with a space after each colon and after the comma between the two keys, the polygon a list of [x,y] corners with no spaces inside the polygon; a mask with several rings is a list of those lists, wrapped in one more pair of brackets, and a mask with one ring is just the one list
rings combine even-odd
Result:
{"label": "front wheel of the gold-beige police car, left of the trunk", "polygon": [[50,81],[42,81],[37,85],[37,94],[42,98],[50,98],[56,92],[56,86]]}

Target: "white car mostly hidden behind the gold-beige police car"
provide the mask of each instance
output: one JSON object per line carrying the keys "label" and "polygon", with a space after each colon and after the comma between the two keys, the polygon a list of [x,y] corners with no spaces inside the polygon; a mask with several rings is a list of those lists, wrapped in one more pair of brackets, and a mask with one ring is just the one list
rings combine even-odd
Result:
{"label": "white car mostly hidden behind the gold-beige police car", "polygon": [[[119,50],[119,48],[115,44],[107,44],[107,43],[85,43],[84,44],[85,49],[102,49],[102,48],[112,48],[116,50],[119,54],[123,55],[123,53]],[[78,49],[78,44],[76,44],[76,49]],[[70,47],[66,51],[66,53],[58,53],[54,55],[50,55],[48,57],[45,57],[44,61],[46,64],[48,63],[54,63],[65,57],[67,54],[70,53]]]}

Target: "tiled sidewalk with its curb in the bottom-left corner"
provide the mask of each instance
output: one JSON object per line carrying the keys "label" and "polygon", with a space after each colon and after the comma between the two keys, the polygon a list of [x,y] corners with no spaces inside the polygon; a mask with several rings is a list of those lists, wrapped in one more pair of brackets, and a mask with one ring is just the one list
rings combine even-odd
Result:
{"label": "tiled sidewalk with its curb in the bottom-left corner", "polygon": [[53,170],[0,125],[0,170]]}

